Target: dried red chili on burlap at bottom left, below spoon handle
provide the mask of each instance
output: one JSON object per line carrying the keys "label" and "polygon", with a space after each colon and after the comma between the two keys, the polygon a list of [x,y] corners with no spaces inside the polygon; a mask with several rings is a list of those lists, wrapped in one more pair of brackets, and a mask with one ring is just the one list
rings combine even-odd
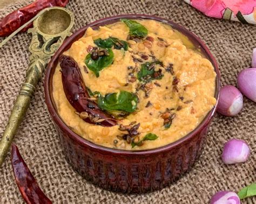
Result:
{"label": "dried red chili on burlap at bottom left, below spoon handle", "polygon": [[23,160],[21,154],[19,153],[18,147],[15,144],[12,144],[11,146],[11,165],[12,169],[14,170],[17,186],[26,203],[52,203],[39,188],[36,179],[29,171],[28,166]]}

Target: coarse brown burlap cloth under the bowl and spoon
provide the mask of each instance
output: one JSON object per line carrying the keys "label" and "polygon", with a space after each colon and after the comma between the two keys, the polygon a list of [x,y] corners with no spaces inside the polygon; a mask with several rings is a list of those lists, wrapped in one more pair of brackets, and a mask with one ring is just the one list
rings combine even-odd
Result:
{"label": "coarse brown burlap cloth under the bowl and spoon", "polygon": [[[0,18],[31,1],[19,1],[0,10]],[[76,16],[73,31],[97,19],[122,13],[146,13],[167,18],[196,33],[217,58],[222,84],[236,85],[238,72],[250,66],[256,46],[256,27],[205,17],[183,1],[84,1],[70,0]],[[0,49],[0,138],[29,63],[30,36],[21,33]],[[44,102],[43,82],[19,128],[14,142],[46,195],[55,203],[209,203],[220,190],[237,192],[256,181],[256,104],[244,100],[236,117],[217,115],[208,133],[202,156],[179,181],[161,191],[143,195],[118,194],[97,188],[69,166]],[[244,164],[224,165],[220,159],[224,143],[244,139],[251,156]],[[0,203],[23,203],[14,180],[10,153],[0,168]],[[256,198],[242,203],[256,203]]]}

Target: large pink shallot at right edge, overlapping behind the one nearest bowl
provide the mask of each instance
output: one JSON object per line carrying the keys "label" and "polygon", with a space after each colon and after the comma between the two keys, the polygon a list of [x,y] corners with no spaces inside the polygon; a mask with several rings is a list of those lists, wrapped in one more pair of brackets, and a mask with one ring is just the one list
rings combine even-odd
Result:
{"label": "large pink shallot at right edge, overlapping behind the one nearest bowl", "polygon": [[242,70],[238,74],[237,82],[241,93],[256,102],[256,68]]}

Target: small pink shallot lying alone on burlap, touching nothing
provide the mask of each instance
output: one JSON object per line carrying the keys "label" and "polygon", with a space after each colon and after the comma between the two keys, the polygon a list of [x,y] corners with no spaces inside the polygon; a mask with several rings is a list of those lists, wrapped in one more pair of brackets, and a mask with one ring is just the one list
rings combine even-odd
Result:
{"label": "small pink shallot lying alone on burlap, touching nothing", "polygon": [[244,140],[231,139],[225,143],[221,158],[225,164],[241,163],[248,159],[250,152]]}

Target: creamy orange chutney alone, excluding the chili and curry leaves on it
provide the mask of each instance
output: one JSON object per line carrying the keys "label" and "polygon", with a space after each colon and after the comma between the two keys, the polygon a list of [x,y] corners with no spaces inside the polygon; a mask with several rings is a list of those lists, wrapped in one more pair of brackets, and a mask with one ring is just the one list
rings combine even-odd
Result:
{"label": "creamy orange chutney alone, excluding the chili and curry leaves on it", "polygon": [[[211,62],[171,26],[154,20],[136,21],[146,27],[147,38],[127,40],[129,27],[117,22],[98,30],[87,29],[85,35],[64,53],[75,59],[86,87],[92,92],[106,95],[125,90],[137,94],[136,111],[119,119],[118,125],[103,127],[86,123],[66,99],[59,65],[53,75],[53,99],[66,125],[79,136],[114,149],[145,150],[173,143],[194,130],[216,103],[216,74]],[[88,47],[96,46],[93,40],[109,37],[127,41],[129,48],[127,51],[112,49],[113,64],[102,69],[97,78],[90,69],[85,70],[85,57]],[[153,79],[146,83],[146,88],[139,89],[141,82],[137,73],[141,65],[155,59],[161,64],[155,65],[154,69],[161,69],[163,77]],[[123,139],[125,132],[120,130],[120,124],[131,123],[140,123],[138,135],[130,140]],[[153,133],[157,138],[145,140],[132,148],[131,139],[138,143],[147,133]]]}

